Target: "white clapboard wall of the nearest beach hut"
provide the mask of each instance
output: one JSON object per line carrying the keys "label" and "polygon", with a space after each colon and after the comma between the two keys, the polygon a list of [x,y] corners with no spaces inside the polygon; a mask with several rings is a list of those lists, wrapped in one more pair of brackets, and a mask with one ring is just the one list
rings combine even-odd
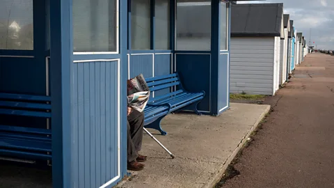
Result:
{"label": "white clapboard wall of the nearest beach hut", "polygon": [[[280,40],[279,37],[278,40]],[[278,89],[280,56],[280,50],[276,52],[275,49],[273,37],[232,37],[230,40],[230,93],[273,95]],[[278,57],[275,58],[275,54]],[[276,64],[274,59],[277,59]],[[274,69],[277,77],[274,77]],[[273,85],[274,78],[277,86]]]}

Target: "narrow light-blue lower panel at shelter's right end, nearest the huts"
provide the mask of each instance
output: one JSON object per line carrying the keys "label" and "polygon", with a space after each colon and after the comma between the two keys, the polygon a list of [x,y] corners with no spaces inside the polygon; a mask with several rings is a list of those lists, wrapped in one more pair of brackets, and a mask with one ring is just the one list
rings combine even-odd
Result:
{"label": "narrow light-blue lower panel at shelter's right end, nearest the huts", "polygon": [[220,112],[225,111],[228,108],[228,100],[229,100],[228,69],[229,69],[228,54],[220,54],[218,61],[218,110]]}

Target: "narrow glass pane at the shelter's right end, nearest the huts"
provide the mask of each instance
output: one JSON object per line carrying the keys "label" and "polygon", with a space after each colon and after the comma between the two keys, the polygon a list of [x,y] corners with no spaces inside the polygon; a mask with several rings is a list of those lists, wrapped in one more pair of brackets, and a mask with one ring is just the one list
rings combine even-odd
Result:
{"label": "narrow glass pane at the shelter's right end, nearest the huts", "polygon": [[228,49],[228,7],[221,1],[221,50]]}

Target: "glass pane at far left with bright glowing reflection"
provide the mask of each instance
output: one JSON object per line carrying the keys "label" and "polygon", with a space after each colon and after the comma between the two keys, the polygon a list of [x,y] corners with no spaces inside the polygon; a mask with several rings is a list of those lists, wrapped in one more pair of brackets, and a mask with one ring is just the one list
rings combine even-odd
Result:
{"label": "glass pane at far left with bright glowing reflection", "polygon": [[0,49],[33,49],[33,0],[1,0]]}

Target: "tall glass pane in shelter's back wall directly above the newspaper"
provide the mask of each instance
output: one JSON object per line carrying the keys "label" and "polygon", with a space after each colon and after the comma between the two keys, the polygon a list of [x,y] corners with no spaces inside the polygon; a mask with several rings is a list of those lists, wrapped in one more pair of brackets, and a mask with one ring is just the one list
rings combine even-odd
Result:
{"label": "tall glass pane in shelter's back wall directly above the newspaper", "polygon": [[150,49],[150,0],[131,2],[131,49]]}

